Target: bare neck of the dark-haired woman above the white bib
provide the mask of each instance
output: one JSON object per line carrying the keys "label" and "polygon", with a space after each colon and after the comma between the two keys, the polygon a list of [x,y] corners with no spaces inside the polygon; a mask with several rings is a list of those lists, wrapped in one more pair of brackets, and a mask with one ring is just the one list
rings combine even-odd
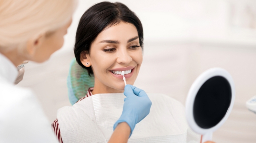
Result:
{"label": "bare neck of the dark-haired woman above the white bib", "polygon": [[92,94],[106,94],[106,93],[123,93],[124,91],[117,90],[111,87],[108,87],[101,83],[97,77],[94,78],[94,89],[92,91]]}

